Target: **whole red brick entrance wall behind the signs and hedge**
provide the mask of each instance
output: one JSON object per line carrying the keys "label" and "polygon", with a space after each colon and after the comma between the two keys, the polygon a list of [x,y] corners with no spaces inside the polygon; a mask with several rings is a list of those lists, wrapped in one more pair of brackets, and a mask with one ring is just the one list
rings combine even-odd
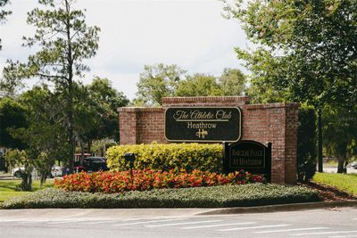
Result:
{"label": "whole red brick entrance wall behind the signs and hedge", "polygon": [[119,108],[120,144],[169,143],[164,111],[174,106],[237,106],[242,110],[242,140],[270,142],[271,181],[296,183],[297,114],[299,103],[249,104],[242,96],[167,97],[158,108]]}

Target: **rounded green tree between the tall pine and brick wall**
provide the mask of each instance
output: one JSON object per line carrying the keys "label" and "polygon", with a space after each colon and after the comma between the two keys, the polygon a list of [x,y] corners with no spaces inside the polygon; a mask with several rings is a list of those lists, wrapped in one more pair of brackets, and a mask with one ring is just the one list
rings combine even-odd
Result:
{"label": "rounded green tree between the tall pine and brick wall", "polygon": [[91,151],[94,140],[119,140],[118,107],[126,106],[128,98],[112,87],[107,78],[94,78],[92,84],[74,87],[75,135],[82,154]]}

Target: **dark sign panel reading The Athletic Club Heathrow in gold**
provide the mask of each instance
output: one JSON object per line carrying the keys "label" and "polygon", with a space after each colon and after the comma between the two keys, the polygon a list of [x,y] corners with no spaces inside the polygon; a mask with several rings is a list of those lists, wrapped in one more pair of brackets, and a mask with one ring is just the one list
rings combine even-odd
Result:
{"label": "dark sign panel reading The Athletic Club Heathrow in gold", "polygon": [[180,107],[165,111],[165,137],[170,142],[237,142],[242,134],[237,107]]}

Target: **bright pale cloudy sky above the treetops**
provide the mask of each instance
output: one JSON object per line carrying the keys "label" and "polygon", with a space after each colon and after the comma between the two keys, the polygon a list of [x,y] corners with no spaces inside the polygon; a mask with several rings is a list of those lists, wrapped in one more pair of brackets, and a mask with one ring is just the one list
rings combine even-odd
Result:
{"label": "bright pale cloudy sky above the treetops", "polygon": [[[39,4],[11,2],[12,15],[0,27],[0,70],[7,59],[26,62],[33,53],[21,46],[21,37],[33,35],[27,12]],[[79,80],[90,84],[95,76],[108,78],[132,100],[145,64],[177,64],[189,74],[219,76],[224,68],[245,72],[234,51],[246,47],[245,34],[237,21],[221,16],[222,6],[219,0],[78,0],[74,7],[86,9],[87,25],[101,29],[99,49],[86,62],[91,70]]]}

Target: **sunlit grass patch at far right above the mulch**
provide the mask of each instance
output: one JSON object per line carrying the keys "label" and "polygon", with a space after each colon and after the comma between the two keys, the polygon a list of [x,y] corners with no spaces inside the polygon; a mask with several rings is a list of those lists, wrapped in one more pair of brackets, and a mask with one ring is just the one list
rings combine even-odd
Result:
{"label": "sunlit grass patch at far right above the mulch", "polygon": [[316,173],[312,181],[321,185],[335,187],[357,197],[357,174]]}

